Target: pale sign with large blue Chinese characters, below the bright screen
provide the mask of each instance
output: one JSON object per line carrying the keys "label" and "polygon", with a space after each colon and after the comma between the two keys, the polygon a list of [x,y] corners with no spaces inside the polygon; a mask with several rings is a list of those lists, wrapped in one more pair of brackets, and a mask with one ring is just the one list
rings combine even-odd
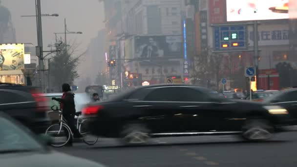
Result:
{"label": "pale sign with large blue Chinese characters, below the bright screen", "polygon": [[[254,45],[253,27],[249,27],[249,43]],[[289,44],[289,27],[288,25],[274,24],[258,26],[258,45],[287,45]]]}

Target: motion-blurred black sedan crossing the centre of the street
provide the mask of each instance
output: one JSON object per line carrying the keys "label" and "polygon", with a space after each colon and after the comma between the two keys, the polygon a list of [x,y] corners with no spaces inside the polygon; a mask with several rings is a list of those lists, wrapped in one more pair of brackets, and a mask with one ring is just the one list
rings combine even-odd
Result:
{"label": "motion-blurred black sedan crossing the centre of the street", "polygon": [[266,140],[282,125],[290,125],[286,109],[219,98],[208,89],[187,85],[139,87],[107,102],[89,104],[90,131],[122,138],[127,144],[150,137],[240,134]]}

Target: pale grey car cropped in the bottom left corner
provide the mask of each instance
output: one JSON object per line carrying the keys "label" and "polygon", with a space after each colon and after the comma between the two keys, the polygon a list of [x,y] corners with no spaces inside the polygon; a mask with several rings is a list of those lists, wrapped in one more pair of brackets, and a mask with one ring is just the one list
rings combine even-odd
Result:
{"label": "pale grey car cropped in the bottom left corner", "polygon": [[36,136],[4,113],[0,113],[0,136],[1,167],[104,167],[48,148],[45,137]]}

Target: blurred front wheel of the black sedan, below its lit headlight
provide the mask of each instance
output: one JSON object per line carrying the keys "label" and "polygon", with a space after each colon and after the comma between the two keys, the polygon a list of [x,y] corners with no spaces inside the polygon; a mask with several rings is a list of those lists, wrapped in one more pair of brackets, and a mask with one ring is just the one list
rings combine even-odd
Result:
{"label": "blurred front wheel of the black sedan, below its lit headlight", "polygon": [[249,141],[264,141],[273,136],[273,126],[269,121],[261,119],[247,121],[242,131],[242,137]]}

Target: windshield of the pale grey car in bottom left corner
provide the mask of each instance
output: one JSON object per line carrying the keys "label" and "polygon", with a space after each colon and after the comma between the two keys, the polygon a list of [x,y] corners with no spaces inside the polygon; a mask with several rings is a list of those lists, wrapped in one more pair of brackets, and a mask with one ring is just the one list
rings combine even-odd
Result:
{"label": "windshield of the pale grey car in bottom left corner", "polygon": [[0,116],[0,153],[6,151],[37,151],[43,146],[11,121]]}

